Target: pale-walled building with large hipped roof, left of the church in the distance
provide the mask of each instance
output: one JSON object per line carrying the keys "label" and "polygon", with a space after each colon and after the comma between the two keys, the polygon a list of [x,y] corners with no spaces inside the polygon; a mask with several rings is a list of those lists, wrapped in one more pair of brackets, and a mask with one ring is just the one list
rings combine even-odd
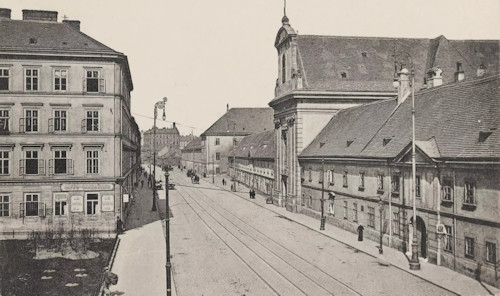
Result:
{"label": "pale-walled building with large hipped roof, left of the church in the distance", "polygon": [[201,173],[227,173],[229,151],[245,136],[273,129],[271,108],[231,108],[201,134],[205,164]]}

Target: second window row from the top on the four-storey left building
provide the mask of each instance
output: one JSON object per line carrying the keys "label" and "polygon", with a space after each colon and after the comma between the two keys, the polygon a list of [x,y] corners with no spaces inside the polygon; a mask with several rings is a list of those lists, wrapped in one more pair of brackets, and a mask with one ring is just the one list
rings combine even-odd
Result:
{"label": "second window row from the top on the four-storey left building", "polygon": [[[53,109],[52,118],[48,119],[48,132],[68,132],[68,123],[70,118],[67,109]],[[24,109],[24,117],[19,119],[20,133],[38,133],[40,127],[40,110],[36,108]],[[14,117],[13,117],[14,118]],[[10,133],[11,114],[9,109],[0,109],[0,134]],[[84,119],[81,121],[82,132],[98,132],[100,126],[100,111],[87,110],[84,113]]]}

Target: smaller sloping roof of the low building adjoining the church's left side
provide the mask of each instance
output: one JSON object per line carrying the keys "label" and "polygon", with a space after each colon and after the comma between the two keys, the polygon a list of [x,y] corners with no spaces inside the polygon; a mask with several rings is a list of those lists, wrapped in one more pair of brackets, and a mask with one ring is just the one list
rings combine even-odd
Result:
{"label": "smaller sloping roof of the low building adjoining the church's left side", "polygon": [[[274,143],[274,130],[246,136],[234,149],[234,156],[274,159],[276,156]],[[233,151],[230,151],[228,155],[233,156]]]}

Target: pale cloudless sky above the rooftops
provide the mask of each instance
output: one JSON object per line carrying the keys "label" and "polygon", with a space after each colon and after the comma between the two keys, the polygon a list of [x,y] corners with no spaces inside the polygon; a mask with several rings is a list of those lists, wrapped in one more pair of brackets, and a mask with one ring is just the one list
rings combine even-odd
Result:
{"label": "pale cloudless sky above the rooftops", "polygon": [[[229,107],[268,107],[278,76],[274,48],[284,0],[0,0],[81,21],[81,31],[127,55],[139,129],[166,121],[199,135]],[[500,39],[500,0],[288,0],[299,35]]]}

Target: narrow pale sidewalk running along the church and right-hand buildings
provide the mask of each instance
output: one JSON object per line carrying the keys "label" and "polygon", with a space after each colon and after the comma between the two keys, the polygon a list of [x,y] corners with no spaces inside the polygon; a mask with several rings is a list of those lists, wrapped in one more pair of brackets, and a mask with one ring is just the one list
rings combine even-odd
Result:
{"label": "narrow pale sidewalk running along the church and right-hand buildings", "polygon": [[[222,186],[222,179],[230,180],[228,176],[216,176],[215,186],[230,191],[230,184]],[[203,178],[203,181],[212,184],[212,177]],[[272,210],[276,214],[283,217],[289,218],[311,230],[320,232],[332,239],[342,242],[348,246],[351,246],[363,253],[366,253],[372,257],[379,258],[382,264],[390,263],[396,268],[402,271],[411,273],[423,280],[431,282],[437,286],[444,289],[452,291],[460,295],[500,295],[500,289],[492,287],[490,285],[479,283],[478,281],[467,277],[463,274],[455,272],[451,269],[437,266],[432,263],[427,263],[420,261],[421,269],[417,271],[412,271],[409,269],[408,259],[405,254],[387,246],[384,246],[384,254],[379,255],[378,253],[378,242],[371,240],[364,240],[362,242],[358,241],[357,234],[351,233],[349,231],[343,230],[341,228],[335,227],[331,224],[325,225],[325,230],[320,231],[320,221],[318,219],[309,217],[304,214],[292,213],[287,211],[284,207],[278,207],[277,205],[266,204],[266,195],[256,192],[256,198],[253,200],[248,199],[249,188],[241,183],[238,185],[238,190],[235,192],[236,195],[247,199],[249,202],[256,203],[262,207]]]}

